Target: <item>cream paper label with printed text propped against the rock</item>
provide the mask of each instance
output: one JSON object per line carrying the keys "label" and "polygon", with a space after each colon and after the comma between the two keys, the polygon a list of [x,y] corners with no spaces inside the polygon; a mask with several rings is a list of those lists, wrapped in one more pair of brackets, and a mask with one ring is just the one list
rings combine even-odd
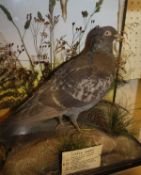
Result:
{"label": "cream paper label with printed text propped against the rock", "polygon": [[62,175],[97,168],[101,165],[102,145],[62,153]]}

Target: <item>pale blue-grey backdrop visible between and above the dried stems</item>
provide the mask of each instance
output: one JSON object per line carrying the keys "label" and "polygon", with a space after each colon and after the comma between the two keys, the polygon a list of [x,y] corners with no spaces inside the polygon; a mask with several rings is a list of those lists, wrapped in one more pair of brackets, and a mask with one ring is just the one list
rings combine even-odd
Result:
{"label": "pale blue-grey backdrop visible between and above the dried stems", "polygon": [[[48,2],[48,0],[0,0],[0,3],[9,9],[12,17],[14,18],[14,21],[19,26],[21,31],[23,30],[26,14],[32,13],[34,16],[36,15],[37,11],[41,11],[43,15],[47,14]],[[72,22],[75,21],[78,26],[83,26],[84,21],[81,15],[81,11],[87,10],[91,14],[94,10],[95,3],[96,0],[68,0],[67,21],[65,23],[60,17],[61,19],[55,28],[55,37],[59,38],[62,35],[67,35],[67,39],[70,40],[72,38]],[[60,3],[58,1],[54,14],[61,14]],[[117,16],[118,0],[104,0],[100,13],[97,13],[94,16],[94,19],[96,21],[94,25],[111,25],[117,27]],[[92,27],[94,26],[89,26],[88,30],[90,30]],[[0,11],[0,32],[7,42],[14,41],[15,43],[18,43],[19,37],[16,30],[6,19],[2,11]],[[0,36],[0,42],[1,40],[2,36]],[[25,41],[30,54],[35,55],[30,32],[27,32]],[[84,41],[82,43],[84,43]]]}

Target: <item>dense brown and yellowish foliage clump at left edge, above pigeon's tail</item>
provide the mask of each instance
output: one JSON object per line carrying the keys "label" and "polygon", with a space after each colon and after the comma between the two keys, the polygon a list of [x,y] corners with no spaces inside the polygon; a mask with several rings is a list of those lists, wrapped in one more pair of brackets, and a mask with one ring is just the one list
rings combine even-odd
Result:
{"label": "dense brown and yellowish foliage clump at left edge, above pigeon's tail", "polygon": [[34,90],[35,74],[25,69],[18,57],[22,46],[13,50],[14,43],[0,48],[0,108],[11,108],[19,104]]}

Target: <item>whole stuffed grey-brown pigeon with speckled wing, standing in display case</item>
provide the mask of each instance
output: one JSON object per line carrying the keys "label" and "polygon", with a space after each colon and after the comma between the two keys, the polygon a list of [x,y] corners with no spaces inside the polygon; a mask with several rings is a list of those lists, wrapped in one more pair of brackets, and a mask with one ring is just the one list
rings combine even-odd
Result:
{"label": "whole stuffed grey-brown pigeon with speckled wing, standing in display case", "polygon": [[75,128],[78,115],[96,105],[115,76],[112,53],[117,31],[111,26],[92,29],[82,52],[60,65],[50,78],[15,113],[16,121],[33,124],[52,118],[70,118]]}

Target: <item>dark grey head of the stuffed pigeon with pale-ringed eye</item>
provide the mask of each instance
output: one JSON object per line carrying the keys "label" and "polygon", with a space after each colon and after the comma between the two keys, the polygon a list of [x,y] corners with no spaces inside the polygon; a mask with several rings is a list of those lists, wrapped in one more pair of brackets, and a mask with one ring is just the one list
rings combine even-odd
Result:
{"label": "dark grey head of the stuffed pigeon with pale-ringed eye", "polygon": [[118,32],[111,26],[93,28],[87,35],[85,49],[87,50],[100,50],[107,53],[113,51],[113,41],[117,39]]}

